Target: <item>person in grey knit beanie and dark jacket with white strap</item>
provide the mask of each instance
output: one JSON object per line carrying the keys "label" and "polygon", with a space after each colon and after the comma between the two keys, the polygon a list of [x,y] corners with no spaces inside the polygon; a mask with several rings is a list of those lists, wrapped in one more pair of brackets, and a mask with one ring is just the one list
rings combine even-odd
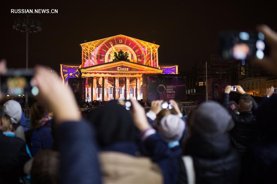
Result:
{"label": "person in grey knit beanie and dark jacket with white strap", "polygon": [[240,159],[227,133],[234,124],[226,109],[215,103],[201,104],[190,112],[188,124],[190,137],[183,148],[186,159],[180,162],[178,183],[237,184]]}

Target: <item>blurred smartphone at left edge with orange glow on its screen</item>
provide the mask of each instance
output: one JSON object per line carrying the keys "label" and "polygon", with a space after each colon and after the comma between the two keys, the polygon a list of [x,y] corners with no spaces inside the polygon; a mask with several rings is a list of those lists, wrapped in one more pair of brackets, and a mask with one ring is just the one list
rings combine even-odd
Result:
{"label": "blurred smartphone at left edge with orange glow on its screen", "polygon": [[32,86],[34,71],[29,69],[9,69],[0,75],[0,90],[10,96],[22,94],[38,94],[38,88]]}

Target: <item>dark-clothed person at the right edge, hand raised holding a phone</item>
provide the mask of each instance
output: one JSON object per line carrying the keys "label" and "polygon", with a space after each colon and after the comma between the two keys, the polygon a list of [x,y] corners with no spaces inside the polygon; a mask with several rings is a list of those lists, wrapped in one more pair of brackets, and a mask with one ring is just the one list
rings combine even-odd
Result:
{"label": "dark-clothed person at the right edge, hand raised holding a phone", "polygon": [[267,88],[257,113],[263,137],[245,155],[243,183],[277,183],[277,96]]}

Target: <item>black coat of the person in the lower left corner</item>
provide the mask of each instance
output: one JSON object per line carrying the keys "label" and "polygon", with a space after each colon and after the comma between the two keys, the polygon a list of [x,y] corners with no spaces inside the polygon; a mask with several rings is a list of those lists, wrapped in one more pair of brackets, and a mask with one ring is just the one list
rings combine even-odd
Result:
{"label": "black coat of the person in the lower left corner", "polygon": [[25,142],[17,137],[3,135],[0,130],[0,183],[19,183],[23,166],[30,159]]}

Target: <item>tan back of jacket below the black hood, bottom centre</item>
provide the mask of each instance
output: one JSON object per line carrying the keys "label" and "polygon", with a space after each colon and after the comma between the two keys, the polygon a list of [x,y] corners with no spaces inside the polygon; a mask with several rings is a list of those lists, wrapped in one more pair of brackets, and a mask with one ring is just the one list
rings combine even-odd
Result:
{"label": "tan back of jacket below the black hood, bottom centre", "polygon": [[162,183],[157,164],[147,157],[137,157],[113,151],[99,154],[104,183]]}

